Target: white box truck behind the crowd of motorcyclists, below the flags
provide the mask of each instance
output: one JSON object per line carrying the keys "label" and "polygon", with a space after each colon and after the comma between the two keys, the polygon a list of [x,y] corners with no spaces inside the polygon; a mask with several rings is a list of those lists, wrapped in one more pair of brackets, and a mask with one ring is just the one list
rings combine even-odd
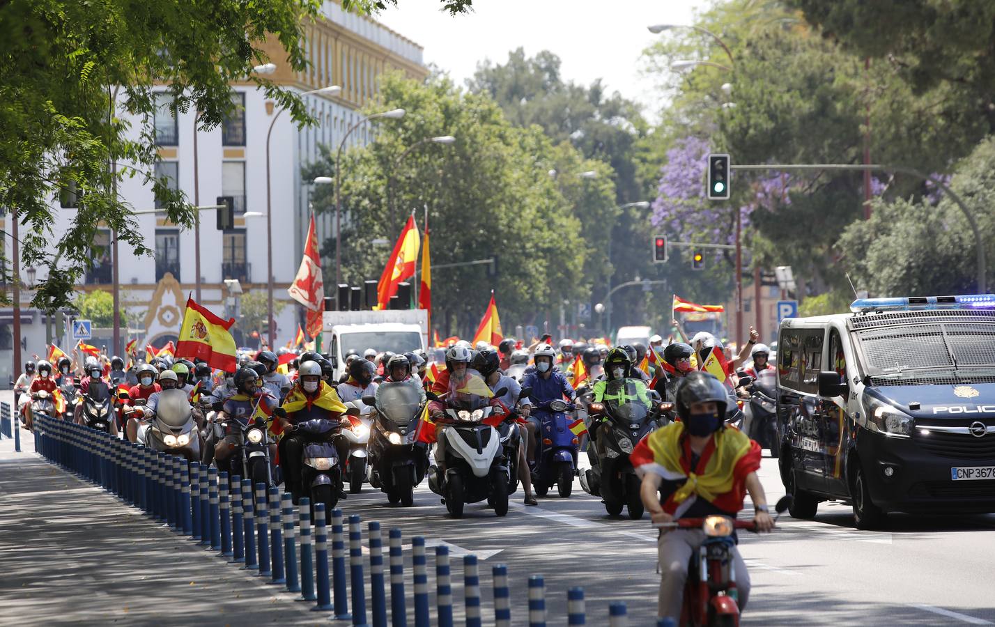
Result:
{"label": "white box truck behind the crowd of motorcyclists, below the flags", "polygon": [[383,312],[325,312],[322,318],[325,350],[335,376],[345,371],[345,355],[367,348],[377,352],[407,352],[428,344],[429,314],[425,310]]}

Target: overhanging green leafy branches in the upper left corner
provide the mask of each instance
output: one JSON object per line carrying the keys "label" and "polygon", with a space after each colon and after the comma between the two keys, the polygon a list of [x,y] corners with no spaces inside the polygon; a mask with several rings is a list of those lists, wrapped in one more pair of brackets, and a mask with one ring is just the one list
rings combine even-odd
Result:
{"label": "overhanging green leafy branches in the upper left corner", "polygon": [[[21,263],[49,268],[36,307],[68,305],[99,225],[135,254],[151,254],[116,185],[134,176],[153,182],[154,86],[168,86],[174,110],[194,107],[203,128],[216,126],[233,106],[230,83],[247,79],[298,121],[309,119],[297,96],[253,75],[253,67],[269,61],[263,51],[269,37],[287,51],[291,69],[302,71],[303,27],[318,6],[316,0],[0,4],[0,205],[26,227]],[[79,210],[56,237],[51,204],[67,191],[79,194]],[[193,225],[192,206],[165,179],[154,181],[154,191],[172,223]]]}

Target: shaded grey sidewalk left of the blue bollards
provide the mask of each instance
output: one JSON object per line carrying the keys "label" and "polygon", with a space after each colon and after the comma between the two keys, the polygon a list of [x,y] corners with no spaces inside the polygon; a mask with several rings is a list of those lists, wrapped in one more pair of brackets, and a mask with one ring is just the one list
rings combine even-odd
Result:
{"label": "shaded grey sidewalk left of the blue bollards", "polygon": [[[10,402],[10,393],[0,394]],[[0,625],[323,623],[283,585],[249,574],[138,510],[0,441]]]}

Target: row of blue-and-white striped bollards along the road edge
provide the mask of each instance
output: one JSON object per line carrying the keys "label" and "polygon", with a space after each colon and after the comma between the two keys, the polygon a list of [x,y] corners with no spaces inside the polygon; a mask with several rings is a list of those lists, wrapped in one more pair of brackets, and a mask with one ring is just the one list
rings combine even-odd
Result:
{"label": "row of blue-and-white striped bollards along the road edge", "polygon": [[[189,536],[198,545],[231,562],[255,571],[269,583],[281,585],[299,598],[314,603],[313,610],[332,612],[335,619],[367,625],[366,578],[362,528],[359,516],[346,522],[342,511],[330,512],[330,532],[325,506],[311,506],[300,499],[295,508],[290,493],[239,475],[208,468],[183,457],[166,455],[104,432],[73,423],[40,417],[35,422],[36,451],[49,461],[116,495],[127,505],[143,510],[156,522]],[[313,520],[312,511],[313,510]],[[345,524],[348,524],[346,529]],[[367,524],[369,550],[369,616],[373,627],[386,627],[387,581],[384,570],[380,523]],[[348,546],[346,547],[346,537]],[[388,533],[390,622],[408,627],[404,585],[404,557],[400,528]],[[329,556],[329,542],[331,554]],[[412,538],[414,575],[413,625],[429,627],[428,561],[425,538]],[[346,576],[346,548],[349,573]],[[453,627],[453,585],[449,546],[435,547],[436,622]],[[467,627],[481,627],[484,617],[481,580],[476,555],[465,555],[464,604]],[[511,624],[511,599],[507,566],[493,568],[495,625]],[[349,611],[351,592],[352,611]],[[582,588],[567,592],[569,625],[584,625],[586,611]],[[541,575],[528,578],[528,625],[546,624],[545,584]],[[625,603],[609,607],[609,625],[628,625]],[[673,627],[662,620],[659,627]]]}

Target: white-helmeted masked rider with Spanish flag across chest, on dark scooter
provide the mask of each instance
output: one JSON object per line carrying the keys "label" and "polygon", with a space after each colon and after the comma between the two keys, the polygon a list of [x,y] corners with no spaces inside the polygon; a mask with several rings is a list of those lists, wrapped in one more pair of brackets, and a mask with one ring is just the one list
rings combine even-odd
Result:
{"label": "white-helmeted masked rider with Spanish flag across chest, on dark scooter", "polygon": [[[295,425],[317,418],[337,421],[344,414],[345,405],[338,398],[335,388],[321,380],[321,366],[316,361],[301,362],[298,381],[287,393],[283,406],[276,411],[280,421],[281,438],[277,445],[280,466],[284,469],[287,488],[294,495],[295,504],[306,494],[300,485],[300,460],[305,440],[295,434]],[[337,435],[333,437],[333,442],[338,450],[338,459],[344,460],[349,453],[348,443]]]}

